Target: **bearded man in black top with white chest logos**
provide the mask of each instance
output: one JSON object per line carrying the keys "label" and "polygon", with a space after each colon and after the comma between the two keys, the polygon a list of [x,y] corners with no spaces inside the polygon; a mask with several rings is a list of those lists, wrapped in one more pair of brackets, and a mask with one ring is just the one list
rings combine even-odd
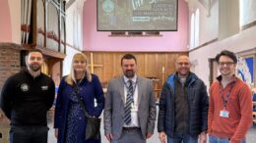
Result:
{"label": "bearded man in black top with white chest logos", "polygon": [[53,80],[40,71],[40,50],[29,52],[26,71],[9,77],[2,89],[0,107],[11,120],[11,143],[47,143],[47,111],[54,100]]}

